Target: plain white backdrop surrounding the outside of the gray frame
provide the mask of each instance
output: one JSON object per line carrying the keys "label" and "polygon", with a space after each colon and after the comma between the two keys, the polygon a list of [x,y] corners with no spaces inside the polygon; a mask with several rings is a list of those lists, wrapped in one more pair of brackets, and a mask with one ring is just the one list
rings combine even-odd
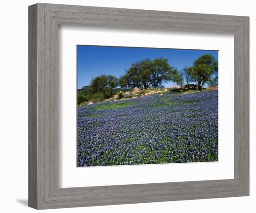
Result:
{"label": "plain white backdrop surrounding the outside of the gray frame", "polygon": [[[177,12],[214,13],[250,16],[250,196],[206,200],[173,201],[116,206],[46,210],[45,212],[255,212],[255,92],[256,13],[251,0],[44,0],[47,3],[76,4],[101,7],[167,10]],[[34,0],[3,1],[0,8],[0,210],[1,212],[35,212],[27,207],[27,6]]]}

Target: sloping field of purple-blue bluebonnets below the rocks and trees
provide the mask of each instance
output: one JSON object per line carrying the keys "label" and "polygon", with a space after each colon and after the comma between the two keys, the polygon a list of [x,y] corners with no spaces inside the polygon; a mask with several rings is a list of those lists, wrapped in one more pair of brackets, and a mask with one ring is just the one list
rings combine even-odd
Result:
{"label": "sloping field of purple-blue bluebonnets below the rocks and trees", "polygon": [[218,161],[218,91],[78,108],[77,166]]}

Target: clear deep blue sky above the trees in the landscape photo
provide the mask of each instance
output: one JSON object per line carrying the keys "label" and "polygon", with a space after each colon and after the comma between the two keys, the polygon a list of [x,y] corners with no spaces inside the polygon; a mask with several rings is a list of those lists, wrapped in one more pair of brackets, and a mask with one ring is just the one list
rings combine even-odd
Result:
{"label": "clear deep blue sky above the trees in the landscape photo", "polygon": [[[146,58],[166,58],[171,67],[182,70],[190,67],[203,54],[212,54],[218,60],[218,51],[184,50],[143,47],[77,46],[77,87],[88,86],[90,81],[102,74],[120,77],[131,64]],[[174,86],[173,82],[164,84]]]}

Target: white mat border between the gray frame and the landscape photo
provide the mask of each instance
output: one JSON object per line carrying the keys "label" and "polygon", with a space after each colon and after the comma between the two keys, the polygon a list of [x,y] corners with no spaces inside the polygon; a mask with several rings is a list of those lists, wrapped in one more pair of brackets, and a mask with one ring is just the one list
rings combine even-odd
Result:
{"label": "white mat border between the gray frame and the landscape photo", "polygon": [[[234,178],[234,35],[159,31],[148,33],[145,30],[123,31],[62,26],[59,29],[59,37],[61,187]],[[77,168],[75,143],[77,44],[219,50],[219,162]]]}

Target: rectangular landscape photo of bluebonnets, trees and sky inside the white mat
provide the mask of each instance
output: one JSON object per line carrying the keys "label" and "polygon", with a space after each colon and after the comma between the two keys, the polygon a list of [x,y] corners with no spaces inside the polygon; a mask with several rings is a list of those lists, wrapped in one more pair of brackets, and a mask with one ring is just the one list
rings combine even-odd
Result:
{"label": "rectangular landscape photo of bluebonnets, trees and sky inside the white mat", "polygon": [[77,45],[77,166],[218,161],[218,51]]}

